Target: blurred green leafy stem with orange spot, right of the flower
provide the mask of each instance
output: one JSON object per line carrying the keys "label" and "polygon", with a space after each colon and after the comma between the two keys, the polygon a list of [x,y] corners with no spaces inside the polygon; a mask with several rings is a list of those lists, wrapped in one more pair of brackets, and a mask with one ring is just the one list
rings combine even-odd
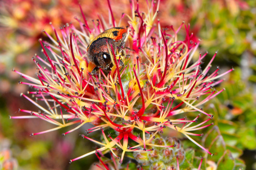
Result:
{"label": "blurred green leafy stem with orange spot, right of the flower", "polygon": [[[230,74],[230,80],[222,84],[226,91],[205,108],[215,116],[224,141],[229,146],[240,149],[256,149],[256,106],[254,96],[245,82],[241,80],[237,68]],[[240,152],[239,152],[240,153]]]}

